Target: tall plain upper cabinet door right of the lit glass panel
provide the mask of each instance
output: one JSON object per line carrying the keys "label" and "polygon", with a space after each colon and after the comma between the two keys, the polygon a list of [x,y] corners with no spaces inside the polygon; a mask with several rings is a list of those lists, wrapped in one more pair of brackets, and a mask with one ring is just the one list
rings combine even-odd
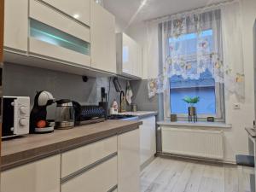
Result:
{"label": "tall plain upper cabinet door right of the lit glass panel", "polygon": [[101,5],[90,2],[91,67],[116,73],[115,19]]}

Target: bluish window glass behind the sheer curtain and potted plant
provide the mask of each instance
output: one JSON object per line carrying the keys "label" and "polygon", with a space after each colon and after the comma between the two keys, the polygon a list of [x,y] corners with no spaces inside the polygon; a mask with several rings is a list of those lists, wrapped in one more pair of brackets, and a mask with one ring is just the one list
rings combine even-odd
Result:
{"label": "bluish window glass behind the sheer curtain and potted plant", "polygon": [[[212,52],[213,37],[212,29],[201,32],[201,38],[207,42],[209,52]],[[197,49],[198,35],[196,33],[183,34],[179,38],[169,38],[169,49],[175,49],[176,44],[179,46],[178,57],[184,58],[184,63],[197,70]],[[209,61],[210,62],[210,61]],[[191,70],[191,69],[190,69]],[[199,118],[213,116],[223,119],[223,90],[222,85],[215,82],[212,73],[206,69],[197,79],[183,79],[182,75],[172,75],[169,79],[170,83],[170,109],[171,113],[176,113],[178,117],[187,117],[189,104],[183,102],[185,96],[200,97],[200,102],[195,104]]]}

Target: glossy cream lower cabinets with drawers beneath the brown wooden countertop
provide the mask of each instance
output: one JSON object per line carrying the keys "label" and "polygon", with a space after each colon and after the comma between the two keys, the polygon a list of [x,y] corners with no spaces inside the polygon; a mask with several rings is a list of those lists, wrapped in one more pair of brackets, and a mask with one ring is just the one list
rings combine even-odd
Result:
{"label": "glossy cream lower cabinets with drawers beneath the brown wooden countertop", "polygon": [[1,192],[139,192],[139,153],[137,129],[2,172]]}

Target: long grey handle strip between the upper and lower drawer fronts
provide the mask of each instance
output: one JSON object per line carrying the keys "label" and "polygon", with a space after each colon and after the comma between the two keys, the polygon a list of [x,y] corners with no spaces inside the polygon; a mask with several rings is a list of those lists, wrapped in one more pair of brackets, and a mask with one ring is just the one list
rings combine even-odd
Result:
{"label": "long grey handle strip between the upper and lower drawer fronts", "polygon": [[118,153],[115,152],[113,154],[109,154],[108,156],[102,158],[101,160],[97,160],[96,162],[90,164],[89,166],[85,166],[84,168],[80,169],[79,171],[77,172],[73,172],[71,173],[70,175],[68,175],[67,177],[63,177],[61,178],[61,184],[62,183],[67,183],[69,180],[71,180],[72,178],[74,177],[78,177],[79,175],[83,174],[84,172],[88,172],[90,171],[91,169],[93,169],[94,167],[96,166],[99,166],[101,165],[102,163],[112,159],[113,157],[115,157]]}

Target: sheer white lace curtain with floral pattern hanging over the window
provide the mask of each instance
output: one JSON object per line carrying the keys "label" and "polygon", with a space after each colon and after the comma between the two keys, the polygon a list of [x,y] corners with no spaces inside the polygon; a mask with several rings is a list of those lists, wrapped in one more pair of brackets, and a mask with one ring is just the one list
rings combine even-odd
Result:
{"label": "sheer white lace curtain with floral pattern hanging over the window", "polygon": [[200,79],[207,71],[212,73],[216,83],[224,84],[227,93],[244,99],[238,3],[171,16],[160,23],[160,31],[163,66],[156,79],[156,92],[168,90],[169,79],[174,75],[183,79]]}

